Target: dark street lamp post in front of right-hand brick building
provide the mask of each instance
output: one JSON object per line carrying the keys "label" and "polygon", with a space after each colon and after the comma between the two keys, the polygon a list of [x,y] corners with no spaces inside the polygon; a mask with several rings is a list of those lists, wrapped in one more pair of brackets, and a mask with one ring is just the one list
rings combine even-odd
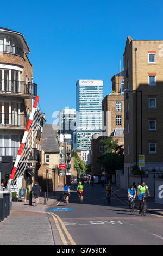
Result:
{"label": "dark street lamp post in front of right-hand brick building", "polygon": [[[140,93],[140,120],[141,120],[141,155],[142,155],[142,90],[125,89],[124,92],[136,92],[136,104],[137,104],[137,92]],[[137,105],[136,105],[136,163],[137,163]],[[141,170],[141,167],[140,167]],[[142,183],[142,170],[141,170],[141,183]]]}

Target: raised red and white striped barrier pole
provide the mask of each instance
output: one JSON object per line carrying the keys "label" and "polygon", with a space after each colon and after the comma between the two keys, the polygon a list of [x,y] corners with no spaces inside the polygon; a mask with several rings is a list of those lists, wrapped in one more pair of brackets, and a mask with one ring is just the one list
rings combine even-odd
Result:
{"label": "raised red and white striped barrier pole", "polygon": [[28,132],[29,132],[29,128],[30,128],[30,125],[31,125],[31,123],[32,123],[32,120],[33,120],[34,113],[35,113],[35,110],[36,110],[36,107],[37,107],[37,103],[38,103],[38,102],[39,102],[39,96],[36,96],[36,99],[35,99],[35,102],[34,102],[34,105],[33,105],[33,108],[32,108],[32,112],[31,112],[30,117],[29,117],[29,120],[28,120],[28,124],[27,124],[27,127],[26,127],[26,131],[24,132],[23,139],[22,139],[22,143],[21,143],[20,149],[18,150],[18,154],[17,154],[17,157],[16,157],[16,161],[15,161],[14,167],[13,167],[13,169],[12,169],[12,173],[11,173],[11,176],[10,176],[10,180],[13,180],[13,179],[14,179],[15,172],[16,172],[16,169],[17,169],[17,165],[18,165],[18,162],[20,161],[20,157],[21,157],[21,154],[22,154],[22,151],[23,151],[23,148],[24,148],[24,144],[25,144],[26,139],[27,139],[27,135],[28,135]]}

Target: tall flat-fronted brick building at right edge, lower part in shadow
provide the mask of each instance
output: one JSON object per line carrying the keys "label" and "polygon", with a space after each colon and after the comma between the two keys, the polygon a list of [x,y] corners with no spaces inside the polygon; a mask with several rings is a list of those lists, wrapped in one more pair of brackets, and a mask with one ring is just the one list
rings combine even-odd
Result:
{"label": "tall flat-fronted brick building at right edge, lower part in shadow", "polygon": [[[162,170],[162,40],[127,37],[124,52],[126,187],[131,166],[145,155],[145,170]],[[142,97],[142,100],[141,100]]]}

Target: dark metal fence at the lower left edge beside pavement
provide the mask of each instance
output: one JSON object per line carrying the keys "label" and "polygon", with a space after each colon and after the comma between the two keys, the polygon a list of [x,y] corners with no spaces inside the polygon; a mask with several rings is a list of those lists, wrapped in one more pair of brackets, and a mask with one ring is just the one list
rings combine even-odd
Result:
{"label": "dark metal fence at the lower left edge beside pavement", "polygon": [[0,192],[0,221],[10,215],[10,193]]}

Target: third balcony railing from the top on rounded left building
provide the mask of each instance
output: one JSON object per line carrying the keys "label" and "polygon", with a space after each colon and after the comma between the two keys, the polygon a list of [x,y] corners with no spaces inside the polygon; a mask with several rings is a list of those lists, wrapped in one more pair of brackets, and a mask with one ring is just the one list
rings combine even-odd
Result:
{"label": "third balcony railing from the top on rounded left building", "polygon": [[0,113],[0,126],[26,127],[29,115]]}

